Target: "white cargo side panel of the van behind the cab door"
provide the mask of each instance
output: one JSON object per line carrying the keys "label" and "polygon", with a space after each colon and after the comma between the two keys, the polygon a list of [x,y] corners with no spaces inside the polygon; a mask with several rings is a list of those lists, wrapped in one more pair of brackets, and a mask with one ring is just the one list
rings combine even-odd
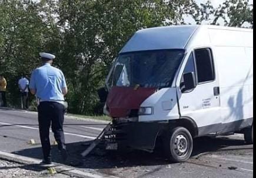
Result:
{"label": "white cargo side panel of the van behind the cab door", "polygon": [[253,117],[253,33],[210,28],[209,34],[218,66],[222,122],[239,125],[239,120]]}

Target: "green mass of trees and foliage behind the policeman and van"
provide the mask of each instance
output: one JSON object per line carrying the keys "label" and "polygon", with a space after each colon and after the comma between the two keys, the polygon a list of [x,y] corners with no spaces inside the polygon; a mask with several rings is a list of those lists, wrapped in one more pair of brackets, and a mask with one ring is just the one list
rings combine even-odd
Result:
{"label": "green mass of trees and foliage behind the policeman and van", "polygon": [[135,31],[185,24],[184,16],[197,24],[253,26],[252,9],[247,0],[218,8],[194,0],[0,0],[0,73],[8,80],[9,105],[19,105],[18,79],[31,75],[45,51],[56,55],[54,65],[67,78],[69,112],[99,114],[97,89]]}

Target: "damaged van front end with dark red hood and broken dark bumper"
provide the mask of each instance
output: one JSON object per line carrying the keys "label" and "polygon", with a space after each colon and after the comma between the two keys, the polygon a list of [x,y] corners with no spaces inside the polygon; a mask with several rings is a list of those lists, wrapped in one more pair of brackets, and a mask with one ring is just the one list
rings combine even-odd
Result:
{"label": "damaged van front end with dark red hood and broken dark bumper", "polygon": [[[167,130],[168,120],[179,118],[175,94],[174,88],[112,88],[107,106],[113,121],[111,130],[105,134],[112,147],[107,149],[154,150],[157,137]],[[152,110],[141,115],[142,108]]]}

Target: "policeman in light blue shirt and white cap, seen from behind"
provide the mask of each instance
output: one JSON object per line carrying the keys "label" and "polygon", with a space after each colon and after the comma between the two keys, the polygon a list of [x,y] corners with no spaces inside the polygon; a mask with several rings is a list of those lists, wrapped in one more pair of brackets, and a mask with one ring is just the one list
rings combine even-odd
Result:
{"label": "policeman in light blue shirt and white cap, seen from behind", "polygon": [[67,159],[67,150],[63,131],[64,123],[64,95],[68,93],[64,74],[52,65],[54,55],[39,53],[43,65],[33,71],[29,89],[39,99],[38,122],[39,135],[44,155],[43,164],[51,164],[51,145],[49,141],[49,127],[58,143],[62,158]]}

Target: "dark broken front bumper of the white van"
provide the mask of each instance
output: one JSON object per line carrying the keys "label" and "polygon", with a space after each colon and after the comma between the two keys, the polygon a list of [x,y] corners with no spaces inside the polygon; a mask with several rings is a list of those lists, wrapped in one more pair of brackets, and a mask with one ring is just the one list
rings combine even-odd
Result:
{"label": "dark broken front bumper of the white van", "polygon": [[118,148],[131,147],[132,149],[152,152],[157,136],[166,126],[165,123],[157,122],[113,124],[111,130],[105,133],[105,140],[107,144],[117,144]]}

